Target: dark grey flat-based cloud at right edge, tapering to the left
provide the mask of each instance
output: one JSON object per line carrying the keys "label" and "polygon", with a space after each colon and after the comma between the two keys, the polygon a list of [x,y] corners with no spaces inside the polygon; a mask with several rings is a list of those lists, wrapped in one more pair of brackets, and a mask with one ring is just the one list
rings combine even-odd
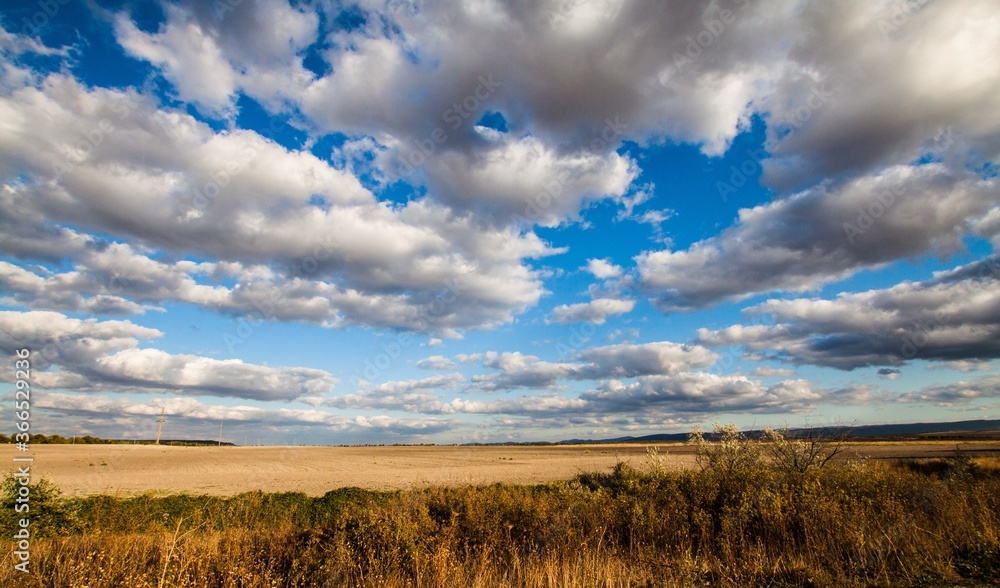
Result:
{"label": "dark grey flat-based cloud at right edge, tapering to the left", "polygon": [[848,370],[915,359],[989,360],[1000,357],[998,267],[994,256],[923,282],[833,300],[768,300],[748,312],[773,317],[773,324],[701,329],[698,341]]}

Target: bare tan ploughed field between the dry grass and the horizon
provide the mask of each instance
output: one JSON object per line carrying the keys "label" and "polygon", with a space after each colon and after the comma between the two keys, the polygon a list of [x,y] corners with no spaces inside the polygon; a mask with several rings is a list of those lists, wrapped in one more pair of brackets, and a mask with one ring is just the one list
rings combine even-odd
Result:
{"label": "bare tan ploughed field between the dry grass and the horizon", "polygon": [[[945,457],[956,445],[972,455],[1000,456],[998,441],[852,443],[845,455],[872,459]],[[664,465],[695,465],[691,449],[658,443]],[[66,494],[188,492],[232,495],[250,490],[321,495],[344,486],[405,489],[430,485],[534,483],[610,470],[626,461],[649,467],[647,445],[474,447],[168,447],[35,445],[19,453],[0,445],[0,463],[34,457],[32,477]],[[21,465],[20,463],[17,465]],[[13,465],[5,469],[15,469]]]}

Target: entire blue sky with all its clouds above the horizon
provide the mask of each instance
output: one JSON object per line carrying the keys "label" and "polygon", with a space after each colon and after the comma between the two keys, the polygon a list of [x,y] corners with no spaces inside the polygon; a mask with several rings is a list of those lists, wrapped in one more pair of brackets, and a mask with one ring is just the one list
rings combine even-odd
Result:
{"label": "entire blue sky with all its clouds above the horizon", "polygon": [[1000,418],[992,0],[0,6],[9,429]]}

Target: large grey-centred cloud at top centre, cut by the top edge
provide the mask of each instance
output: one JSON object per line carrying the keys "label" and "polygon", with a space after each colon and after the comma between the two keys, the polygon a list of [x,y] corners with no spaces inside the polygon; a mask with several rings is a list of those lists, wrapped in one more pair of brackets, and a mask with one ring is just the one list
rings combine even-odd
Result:
{"label": "large grey-centred cloud at top centre, cut by the top edge", "polygon": [[[724,59],[690,67],[664,59],[683,53],[688,37],[718,18],[723,5],[622,3],[595,18],[586,3],[428,2],[413,11],[360,3],[365,25],[333,36],[337,43],[326,55],[333,72],[309,88],[304,111],[327,128],[424,138],[474,95],[480,76],[492,75],[502,86],[482,107],[503,112],[515,133],[530,124],[547,142],[591,148],[612,138],[605,146],[613,147],[617,137],[602,131],[608,118],[620,116],[629,125],[623,136],[669,134],[719,153],[747,122],[747,105],[761,91],[754,78],[768,76],[784,56],[782,48],[749,41],[790,28],[794,3],[775,2],[769,19],[741,19],[731,35],[716,39],[740,67]],[[408,58],[414,52],[418,57]],[[472,140],[471,128],[449,137]]]}

